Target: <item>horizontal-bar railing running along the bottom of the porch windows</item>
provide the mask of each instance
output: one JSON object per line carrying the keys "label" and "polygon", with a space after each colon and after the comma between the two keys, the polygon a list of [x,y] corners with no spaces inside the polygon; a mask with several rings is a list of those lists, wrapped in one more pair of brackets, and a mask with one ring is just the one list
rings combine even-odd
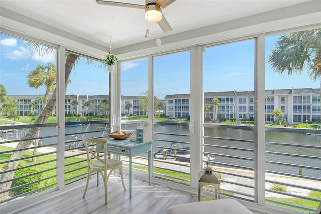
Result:
{"label": "horizontal-bar railing running along the bottom of the porch windows", "polygon": [[[109,132],[108,121],[67,122],[66,125],[78,123],[82,126],[65,128],[63,144],[65,185],[83,179],[87,175],[81,138],[106,137]],[[58,189],[56,126],[54,123],[0,127],[2,134],[0,176],[15,172],[13,179],[2,180],[0,183],[0,185],[7,182],[15,183],[8,189],[1,189],[0,194],[8,193],[8,197],[3,198],[1,204],[45,190]],[[122,121],[121,129],[124,131],[133,131],[135,127],[134,121]],[[32,128],[41,128],[40,136],[25,139],[26,133]],[[321,192],[319,130],[266,127],[265,133],[266,203],[302,212],[315,211],[320,198],[314,195]],[[203,139],[203,155],[211,156],[209,162],[220,178],[221,194],[254,202],[256,200],[254,127],[204,124]],[[18,149],[25,152],[24,156],[10,160],[11,154],[17,151],[16,145],[28,141],[35,142],[35,145]],[[155,122],[153,177],[189,186],[190,143],[189,123]],[[18,168],[6,169],[5,166],[14,161],[19,161]],[[122,161],[126,173],[129,164],[125,157],[122,157]],[[134,174],[147,174],[147,155],[141,154],[135,157],[133,168]],[[207,191],[213,190],[208,188]],[[301,203],[294,203],[294,199]]]}

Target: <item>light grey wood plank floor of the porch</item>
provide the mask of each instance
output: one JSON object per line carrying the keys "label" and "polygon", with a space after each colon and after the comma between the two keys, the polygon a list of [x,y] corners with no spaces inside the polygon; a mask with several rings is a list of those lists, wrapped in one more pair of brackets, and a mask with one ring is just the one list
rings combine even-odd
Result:
{"label": "light grey wood plank floor of the porch", "polygon": [[168,207],[181,203],[197,201],[197,195],[177,189],[148,185],[148,182],[132,179],[132,198],[129,199],[129,179],[124,177],[126,191],[123,190],[119,177],[110,177],[108,180],[108,204],[105,204],[103,183],[99,187],[95,182],[89,184],[86,197],[83,198],[85,185],[73,189],[62,195],[48,199],[32,207],[16,212],[21,214],[44,213],[164,213]]}

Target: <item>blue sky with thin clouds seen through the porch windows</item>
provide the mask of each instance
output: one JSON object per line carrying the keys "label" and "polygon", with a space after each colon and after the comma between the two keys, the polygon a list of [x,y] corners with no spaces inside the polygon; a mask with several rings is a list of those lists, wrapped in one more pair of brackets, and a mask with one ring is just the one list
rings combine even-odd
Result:
{"label": "blue sky with thin clouds seen through the porch windows", "polygon": [[[274,48],[277,36],[266,38],[266,56]],[[55,55],[39,56],[26,42],[4,34],[0,36],[0,83],[9,95],[44,94],[45,88],[30,88],[26,76],[38,64],[55,63]],[[175,53],[155,57],[154,92],[158,98],[167,94],[190,93],[190,54]],[[203,90],[254,90],[254,40],[206,48],[203,65]],[[147,90],[147,59],[122,64],[122,95],[139,95]],[[320,82],[301,75],[280,76],[266,64],[265,88],[319,88]],[[108,73],[83,60],[70,75],[66,94],[108,94]]]}

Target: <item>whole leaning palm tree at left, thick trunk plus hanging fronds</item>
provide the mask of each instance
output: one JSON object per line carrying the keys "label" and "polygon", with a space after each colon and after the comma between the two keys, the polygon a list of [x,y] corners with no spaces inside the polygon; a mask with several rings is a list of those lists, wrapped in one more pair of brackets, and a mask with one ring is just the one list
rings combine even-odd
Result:
{"label": "whole leaning palm tree at left, thick trunk plus hanging fronds", "polygon": [[[52,53],[53,51],[55,51],[55,49],[51,48],[51,47],[46,47],[46,46],[42,46],[40,44],[36,44],[36,43],[29,43],[31,48],[35,49],[38,53],[42,54],[43,53]],[[66,58],[65,58],[65,88],[67,88],[69,81],[69,75],[73,69],[73,67],[75,66],[75,63],[77,62],[77,60],[79,59],[79,56],[73,53],[66,53]],[[90,60],[90,59],[89,59]],[[88,61],[90,62],[90,61]],[[33,72],[33,71],[32,71]],[[35,74],[41,73],[41,70],[36,72],[34,71]],[[49,79],[53,80],[53,76],[54,74],[51,73],[53,71],[50,71],[49,73],[51,75],[48,76]],[[32,76],[30,76],[32,77]],[[48,79],[48,84],[46,84],[46,86],[48,85],[48,87],[51,87],[51,84],[49,84],[49,79]],[[29,80],[28,80],[29,81]],[[34,82],[36,83],[36,82]],[[35,84],[37,85],[37,84]],[[40,85],[39,85],[40,86]],[[38,87],[39,87],[38,86]],[[47,89],[46,89],[47,91]],[[51,96],[50,99],[48,99],[42,113],[40,114],[39,118],[36,120],[36,124],[43,124],[46,123],[46,121],[48,120],[48,118],[51,116],[51,113],[54,111],[55,106],[57,103],[57,91],[56,88],[53,90],[53,94]],[[25,135],[24,139],[33,139],[33,138],[37,138],[39,137],[39,132],[41,130],[41,127],[35,127],[35,128],[31,128],[28,133]],[[32,144],[32,140],[28,140],[28,141],[20,141],[18,143],[18,145],[16,146],[16,151],[13,152],[13,154],[10,157],[10,160],[17,160],[17,161],[13,161],[13,162],[9,162],[6,167],[5,167],[5,171],[8,171],[7,173],[3,173],[2,176],[0,176],[0,182],[3,184],[0,185],[0,191],[4,191],[3,194],[0,194],[0,200],[4,200],[7,199],[8,195],[9,195],[9,191],[5,191],[7,189],[10,188],[12,181],[7,182],[8,180],[11,180],[14,177],[14,173],[15,170],[17,168],[18,165],[18,160],[24,155],[25,153],[25,148],[28,148],[30,145]],[[6,181],[6,182],[5,182]]]}

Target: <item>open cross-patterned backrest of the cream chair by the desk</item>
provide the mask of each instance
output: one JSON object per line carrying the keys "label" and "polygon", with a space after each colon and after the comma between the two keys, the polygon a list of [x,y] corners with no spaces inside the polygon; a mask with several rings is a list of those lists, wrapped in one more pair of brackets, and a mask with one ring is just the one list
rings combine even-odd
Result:
{"label": "open cross-patterned backrest of the cream chair by the desk", "polygon": [[[99,161],[101,163],[106,163],[106,156],[107,156],[106,139],[82,138],[81,140],[86,147],[88,167],[90,167],[92,159],[96,159],[96,161]],[[96,149],[94,149],[93,146],[91,146],[91,144],[96,144],[97,145]],[[104,156],[103,156],[104,159],[101,159],[101,157],[99,157],[98,155],[99,152],[104,153]]]}

